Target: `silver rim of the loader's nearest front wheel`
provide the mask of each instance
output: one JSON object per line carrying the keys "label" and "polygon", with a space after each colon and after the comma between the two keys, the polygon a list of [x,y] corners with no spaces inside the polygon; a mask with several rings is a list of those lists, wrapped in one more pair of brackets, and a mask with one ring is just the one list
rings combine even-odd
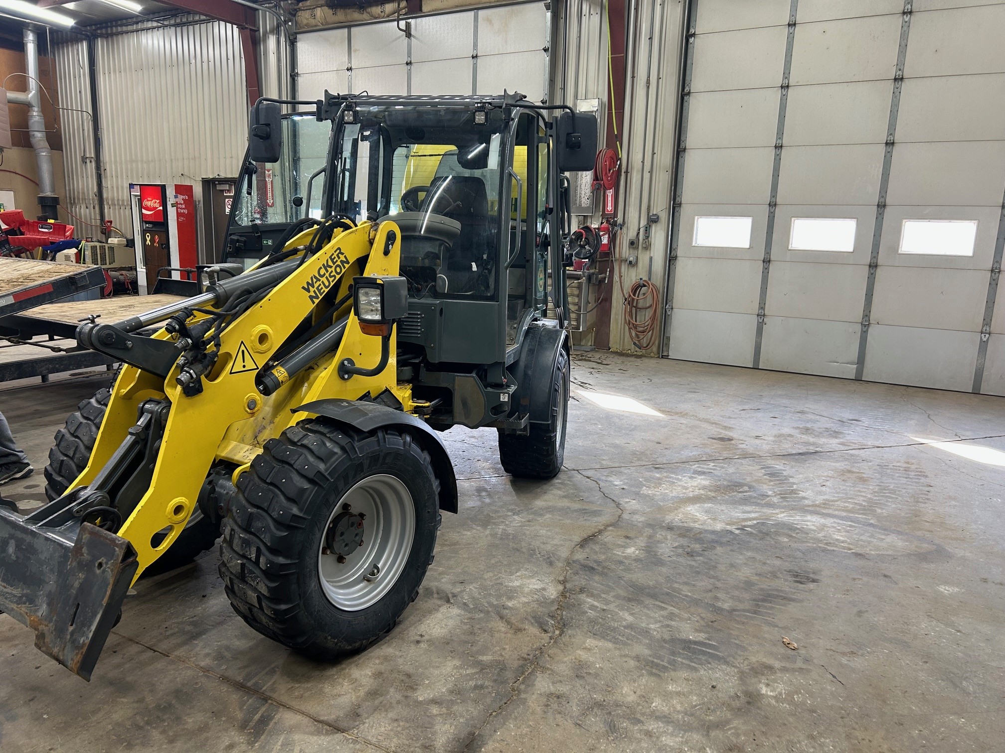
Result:
{"label": "silver rim of the loader's nearest front wheel", "polygon": [[363,545],[344,556],[329,551],[326,536],[318,547],[318,576],[325,596],[346,611],[379,601],[405,569],[415,537],[415,505],[408,487],[395,476],[368,476],[346,492],[323,531],[346,511],[363,514]]}

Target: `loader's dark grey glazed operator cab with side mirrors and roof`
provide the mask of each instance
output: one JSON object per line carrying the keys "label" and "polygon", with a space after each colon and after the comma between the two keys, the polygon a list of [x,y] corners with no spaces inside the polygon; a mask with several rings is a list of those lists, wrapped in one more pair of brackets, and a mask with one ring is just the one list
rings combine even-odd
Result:
{"label": "loader's dark grey glazed operator cab with side mirrors and roof", "polygon": [[[269,134],[271,152],[246,161],[225,260],[250,265],[277,252],[283,233],[312,218],[394,221],[409,292],[408,315],[396,327],[398,363],[411,364],[403,379],[408,368],[423,374],[416,394],[431,400],[438,385],[452,391],[444,407],[457,402],[448,374],[473,375],[479,393],[498,390],[529,327],[564,323],[562,173],[592,170],[594,115],[505,92],[325,92],[315,112],[281,117],[277,105],[260,107],[252,110],[252,139],[256,129]],[[485,410],[495,409],[509,410]],[[469,425],[482,425],[474,413]]]}

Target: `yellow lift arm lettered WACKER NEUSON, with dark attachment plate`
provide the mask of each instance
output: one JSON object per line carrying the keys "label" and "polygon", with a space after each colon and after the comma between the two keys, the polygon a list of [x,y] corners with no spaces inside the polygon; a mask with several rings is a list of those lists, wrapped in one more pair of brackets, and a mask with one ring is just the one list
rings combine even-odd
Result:
{"label": "yellow lift arm lettered WACKER NEUSON, with dark attachment plate", "polygon": [[[397,389],[393,329],[364,334],[345,300],[354,272],[397,275],[396,227],[342,222],[312,253],[322,232],[301,232],[287,244],[287,258],[266,259],[201,296],[78,328],[81,341],[126,365],[89,462],[66,493],[24,518],[0,507],[0,610],[31,626],[36,647],[80,677],[89,679],[129,586],[184,529],[211,466],[233,452],[228,432],[246,435],[256,425],[259,434],[275,434],[296,418],[275,410],[290,402]],[[339,310],[317,314],[326,302]],[[305,321],[325,315],[341,319],[332,325],[340,336],[329,337],[331,352],[312,359],[318,373],[308,389],[271,359]],[[138,334],[157,321],[165,326],[154,335]],[[380,367],[346,379],[338,368],[344,360]],[[259,370],[281,371],[270,396],[255,388]],[[408,396],[401,397],[404,407]]]}

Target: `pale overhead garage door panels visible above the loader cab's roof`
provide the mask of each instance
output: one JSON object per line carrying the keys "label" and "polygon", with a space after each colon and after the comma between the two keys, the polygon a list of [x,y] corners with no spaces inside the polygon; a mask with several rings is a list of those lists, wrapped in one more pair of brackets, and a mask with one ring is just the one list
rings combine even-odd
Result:
{"label": "pale overhead garage door panels visible above the loader cab's roof", "polygon": [[541,101],[548,82],[544,3],[504,5],[411,20],[301,33],[297,91],[370,94],[501,94]]}

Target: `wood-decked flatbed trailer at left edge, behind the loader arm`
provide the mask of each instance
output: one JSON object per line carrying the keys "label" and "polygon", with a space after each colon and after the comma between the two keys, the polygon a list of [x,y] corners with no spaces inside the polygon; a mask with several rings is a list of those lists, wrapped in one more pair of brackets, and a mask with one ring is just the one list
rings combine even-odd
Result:
{"label": "wood-decked flatbed trailer at left edge, behind the loader arm", "polygon": [[[104,285],[99,267],[0,257],[0,383],[111,367],[114,359],[77,344],[81,319],[121,321],[181,298],[162,293],[59,302]],[[41,351],[47,353],[33,355]]]}

